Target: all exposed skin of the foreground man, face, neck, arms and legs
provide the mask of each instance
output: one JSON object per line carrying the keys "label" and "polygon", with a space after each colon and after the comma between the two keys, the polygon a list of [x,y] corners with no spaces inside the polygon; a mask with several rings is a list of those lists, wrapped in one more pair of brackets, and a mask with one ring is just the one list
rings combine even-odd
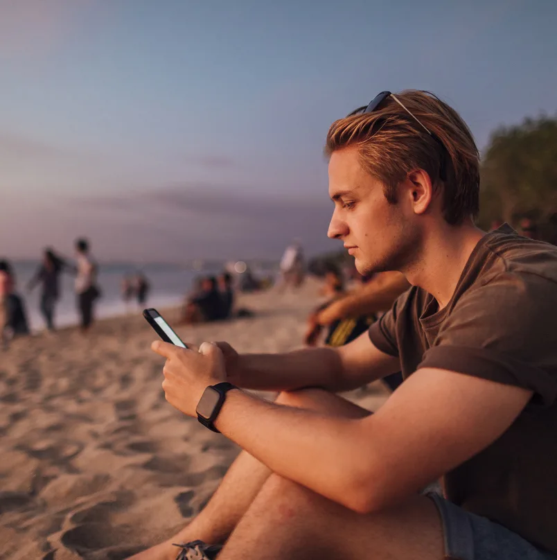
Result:
{"label": "all exposed skin of the foreground man, face, neck, arms and legs", "polygon": [[[407,173],[396,204],[355,148],[333,153],[329,178],[328,235],[352,247],[357,269],[399,270],[445,306],[484,232],[471,218],[445,221],[442,189],[424,170]],[[365,334],[339,349],[268,356],[238,355],[225,343],[200,352],[164,342],[152,349],[166,358],[166,400],[187,416],[195,417],[204,388],[224,379],[281,393],[277,403],[227,393],[215,426],[242,453],[191,523],[134,560],[175,559],[172,543],[195,539],[226,541],[222,560],[359,559],[370,550],[377,558],[439,560],[439,514],[418,492],[500,437],[532,395],[420,368],[369,414],[338,393],[399,371],[400,362]]]}

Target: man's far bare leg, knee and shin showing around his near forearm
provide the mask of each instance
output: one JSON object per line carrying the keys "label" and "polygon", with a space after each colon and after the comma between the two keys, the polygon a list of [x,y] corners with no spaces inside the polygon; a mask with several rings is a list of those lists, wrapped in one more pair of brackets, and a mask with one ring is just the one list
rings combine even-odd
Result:
{"label": "man's far bare leg, knee and shin showing around his near forearm", "polygon": [[[349,418],[362,418],[369,410],[340,396],[319,389],[281,393],[276,403],[319,410]],[[238,455],[203,511],[168,541],[133,556],[130,560],[175,560],[178,549],[172,543],[200,539],[224,543],[260,492],[271,471],[245,451]]]}

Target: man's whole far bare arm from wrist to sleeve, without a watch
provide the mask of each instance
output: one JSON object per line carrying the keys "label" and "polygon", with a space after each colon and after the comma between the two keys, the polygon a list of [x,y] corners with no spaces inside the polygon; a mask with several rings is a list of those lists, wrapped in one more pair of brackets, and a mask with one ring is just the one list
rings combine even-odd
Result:
{"label": "man's whole far bare arm from wrist to sleeve, without a watch", "polygon": [[350,390],[400,370],[398,358],[378,350],[367,333],[338,348],[311,348],[284,354],[242,354],[230,380],[240,387],[269,391],[322,387]]}

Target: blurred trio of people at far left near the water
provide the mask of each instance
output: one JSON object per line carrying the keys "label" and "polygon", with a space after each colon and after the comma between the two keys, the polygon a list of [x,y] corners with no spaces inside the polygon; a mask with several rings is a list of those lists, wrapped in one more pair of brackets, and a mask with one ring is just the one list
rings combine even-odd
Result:
{"label": "blurred trio of people at far left near the water", "polygon": [[[55,330],[55,309],[61,295],[61,276],[64,272],[75,277],[76,307],[80,328],[86,332],[94,320],[94,305],[100,297],[97,283],[98,265],[89,252],[89,241],[79,238],[75,243],[74,261],[60,256],[53,248],[44,250],[42,261],[27,285],[30,292],[40,286],[39,309],[46,329]],[[30,331],[24,299],[17,289],[17,279],[11,263],[0,261],[0,342]]]}

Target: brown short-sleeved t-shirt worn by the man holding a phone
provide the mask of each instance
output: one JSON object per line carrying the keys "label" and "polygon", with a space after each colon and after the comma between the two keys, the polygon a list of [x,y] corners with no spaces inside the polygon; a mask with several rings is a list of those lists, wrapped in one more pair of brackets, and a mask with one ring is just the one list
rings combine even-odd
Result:
{"label": "brown short-sleeved t-shirt worn by the man holding a phone", "polygon": [[414,286],[369,337],[400,358],[405,378],[436,367],[533,390],[512,426],[443,486],[463,509],[557,553],[557,247],[505,224],[479,240],[447,306]]}

